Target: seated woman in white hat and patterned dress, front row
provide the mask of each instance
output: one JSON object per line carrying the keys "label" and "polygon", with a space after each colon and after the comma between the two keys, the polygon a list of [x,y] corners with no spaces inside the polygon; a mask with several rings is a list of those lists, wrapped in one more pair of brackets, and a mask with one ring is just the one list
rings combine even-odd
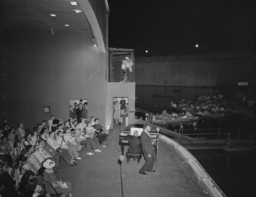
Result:
{"label": "seated woman in white hat and patterned dress, front row", "polygon": [[[72,188],[71,183],[69,182],[62,182],[61,180],[58,181],[55,177],[54,172],[52,171],[52,168],[55,166],[55,162],[53,162],[51,159],[47,159],[43,166],[45,168],[44,174],[43,174],[43,180],[49,182],[52,184],[52,186],[55,188],[55,190],[58,192],[58,194],[61,194],[61,197],[72,196]],[[52,189],[51,185],[45,184],[45,190],[49,194],[55,194],[55,191]]]}

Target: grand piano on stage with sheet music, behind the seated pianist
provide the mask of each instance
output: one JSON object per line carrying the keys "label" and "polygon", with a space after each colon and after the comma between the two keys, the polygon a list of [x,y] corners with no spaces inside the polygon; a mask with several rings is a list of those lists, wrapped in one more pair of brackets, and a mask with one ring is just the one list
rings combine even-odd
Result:
{"label": "grand piano on stage with sheet music, behind the seated pianist", "polygon": [[[128,125],[124,130],[122,130],[122,133],[119,135],[119,145],[121,145],[121,152],[122,155],[124,155],[124,148],[125,146],[128,146],[129,139],[133,137],[134,135],[131,135],[131,128],[139,128],[143,129],[143,125],[141,124],[131,124]],[[158,140],[158,133],[156,130],[150,130],[150,135],[151,135],[151,141],[154,146],[155,154],[157,154],[157,140]],[[140,133],[139,133],[140,135]],[[140,136],[138,136],[140,138]]]}

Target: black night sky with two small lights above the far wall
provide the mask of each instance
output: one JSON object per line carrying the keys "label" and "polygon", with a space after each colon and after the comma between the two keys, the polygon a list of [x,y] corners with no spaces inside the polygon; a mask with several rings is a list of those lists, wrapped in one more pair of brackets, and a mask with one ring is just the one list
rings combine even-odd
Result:
{"label": "black night sky with two small lights above the far wall", "polygon": [[135,57],[255,51],[255,2],[108,0],[109,47]]}

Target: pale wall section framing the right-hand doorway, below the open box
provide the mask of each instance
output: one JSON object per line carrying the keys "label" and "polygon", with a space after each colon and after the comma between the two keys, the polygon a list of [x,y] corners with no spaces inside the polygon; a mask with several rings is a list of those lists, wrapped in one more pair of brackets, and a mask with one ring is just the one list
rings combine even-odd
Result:
{"label": "pale wall section framing the right-hand doorway, below the open box", "polygon": [[[106,124],[111,124],[111,128],[113,127],[113,97],[128,97],[129,111],[135,111],[135,83],[107,83]],[[134,113],[128,114],[129,124],[134,124]]]}

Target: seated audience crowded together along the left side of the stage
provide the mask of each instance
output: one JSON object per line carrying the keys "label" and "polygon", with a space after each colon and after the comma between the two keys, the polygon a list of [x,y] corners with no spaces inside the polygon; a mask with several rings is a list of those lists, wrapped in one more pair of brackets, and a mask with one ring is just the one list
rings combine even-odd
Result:
{"label": "seated audience crowded together along the left side of the stage", "polygon": [[[53,118],[54,117],[54,118]],[[52,119],[53,118],[53,119]],[[33,128],[24,129],[23,124],[17,124],[17,129],[10,127],[3,120],[0,130],[0,196],[49,196],[61,194],[61,197],[72,197],[69,182],[56,179],[59,172],[59,162],[66,165],[78,165],[79,152],[86,148],[87,155],[102,152],[108,135],[99,125],[99,119],[91,117],[86,124],[81,118],[55,119],[51,116],[50,126],[43,120]],[[4,180],[4,181],[3,181]],[[52,188],[55,188],[53,190]]]}

